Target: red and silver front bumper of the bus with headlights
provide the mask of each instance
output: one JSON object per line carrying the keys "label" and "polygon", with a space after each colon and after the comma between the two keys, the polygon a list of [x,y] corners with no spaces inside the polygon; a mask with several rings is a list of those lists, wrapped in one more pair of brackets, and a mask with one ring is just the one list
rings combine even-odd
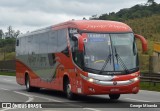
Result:
{"label": "red and silver front bumper of the bus with headlights", "polygon": [[82,93],[85,95],[136,94],[139,91],[140,80],[92,82],[82,79],[82,83]]}

